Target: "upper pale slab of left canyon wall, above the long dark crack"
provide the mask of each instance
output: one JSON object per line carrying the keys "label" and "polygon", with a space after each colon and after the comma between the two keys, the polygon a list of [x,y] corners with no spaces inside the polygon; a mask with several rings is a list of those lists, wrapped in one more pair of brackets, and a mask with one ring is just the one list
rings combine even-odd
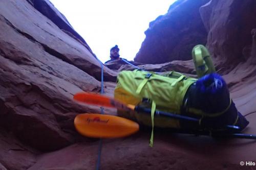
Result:
{"label": "upper pale slab of left canyon wall, above the long dark crack", "polygon": [[[27,1],[1,1],[0,8],[1,20],[9,28],[35,44],[39,43],[50,55],[86,71],[100,80],[100,64],[97,59],[92,57],[91,52],[79,41],[67,36]],[[13,13],[12,11],[17,12]],[[104,69],[105,80],[115,81],[115,72],[105,67]]]}

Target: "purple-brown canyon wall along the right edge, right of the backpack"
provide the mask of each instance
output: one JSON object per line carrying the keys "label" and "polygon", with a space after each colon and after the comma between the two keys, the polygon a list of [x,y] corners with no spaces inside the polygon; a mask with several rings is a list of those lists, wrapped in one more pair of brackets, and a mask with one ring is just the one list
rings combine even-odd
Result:
{"label": "purple-brown canyon wall along the right edge, right of the backpack", "polygon": [[225,78],[238,110],[256,118],[255,1],[210,1],[200,8],[208,31],[207,47]]}

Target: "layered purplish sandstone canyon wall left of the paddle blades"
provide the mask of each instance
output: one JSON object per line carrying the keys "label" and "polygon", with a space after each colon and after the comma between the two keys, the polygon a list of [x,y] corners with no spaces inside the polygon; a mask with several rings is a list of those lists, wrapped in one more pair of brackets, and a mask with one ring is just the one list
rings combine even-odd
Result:
{"label": "layered purplish sandstone canyon wall left of the paddle blades", "polygon": [[[0,63],[1,166],[27,169],[41,151],[87,140],[74,117],[100,108],[74,102],[73,94],[100,92],[101,66],[81,41],[25,0],[0,1]],[[116,72],[103,70],[105,81],[116,80]],[[108,95],[113,88],[105,87]]]}

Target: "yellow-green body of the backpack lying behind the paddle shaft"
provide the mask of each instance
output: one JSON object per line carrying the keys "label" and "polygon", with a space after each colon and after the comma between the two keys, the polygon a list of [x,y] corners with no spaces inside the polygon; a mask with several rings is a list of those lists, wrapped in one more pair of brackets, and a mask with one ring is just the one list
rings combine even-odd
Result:
{"label": "yellow-green body of the backpack lying behind the paddle shaft", "polygon": [[[171,71],[165,76],[141,70],[121,71],[117,77],[114,98],[124,104],[146,105],[152,110],[161,110],[180,114],[184,95],[188,87],[197,79],[188,78],[179,72]],[[147,103],[143,101],[149,101]],[[120,116],[134,119],[139,123],[151,126],[148,114],[130,113],[118,110]],[[155,126],[179,128],[179,120],[155,117]]]}

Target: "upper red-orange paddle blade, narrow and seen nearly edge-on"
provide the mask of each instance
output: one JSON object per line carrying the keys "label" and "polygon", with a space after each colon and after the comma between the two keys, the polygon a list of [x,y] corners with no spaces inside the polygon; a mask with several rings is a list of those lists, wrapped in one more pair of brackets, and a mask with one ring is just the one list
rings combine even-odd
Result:
{"label": "upper red-orange paddle blade, narrow and seen nearly edge-on", "polygon": [[80,92],[74,95],[74,100],[91,105],[114,107],[127,111],[131,110],[131,108],[127,107],[125,104],[101,94]]}

